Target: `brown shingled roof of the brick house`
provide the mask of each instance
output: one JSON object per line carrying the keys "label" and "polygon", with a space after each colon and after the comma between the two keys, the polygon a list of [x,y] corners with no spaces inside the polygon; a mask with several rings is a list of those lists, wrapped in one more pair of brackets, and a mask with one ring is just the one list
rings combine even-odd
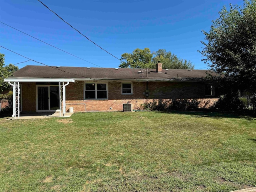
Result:
{"label": "brown shingled roof of the brick house", "polygon": [[[142,71],[138,73],[138,71]],[[204,80],[208,70],[169,69],[157,73],[156,69],[131,68],[86,68],[86,67],[60,67],[28,65],[14,72],[14,78],[92,78],[92,79],[136,79],[136,80]]]}

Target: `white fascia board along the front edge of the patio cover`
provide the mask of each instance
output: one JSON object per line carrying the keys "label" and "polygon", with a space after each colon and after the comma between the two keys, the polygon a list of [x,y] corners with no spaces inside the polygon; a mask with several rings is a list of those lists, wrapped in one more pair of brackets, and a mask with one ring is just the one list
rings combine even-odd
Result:
{"label": "white fascia board along the front edge of the patio cover", "polygon": [[4,82],[75,82],[66,78],[6,78]]}

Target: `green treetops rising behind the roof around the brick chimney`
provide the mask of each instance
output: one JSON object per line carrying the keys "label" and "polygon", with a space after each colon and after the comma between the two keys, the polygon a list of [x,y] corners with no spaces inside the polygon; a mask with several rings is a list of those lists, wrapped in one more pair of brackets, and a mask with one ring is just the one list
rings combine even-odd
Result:
{"label": "green treetops rising behind the roof around the brick chimney", "polygon": [[121,68],[156,68],[160,61],[165,69],[194,69],[190,61],[180,59],[165,49],[151,52],[149,48],[136,48],[132,53],[122,54],[121,60],[124,60],[119,65]]}

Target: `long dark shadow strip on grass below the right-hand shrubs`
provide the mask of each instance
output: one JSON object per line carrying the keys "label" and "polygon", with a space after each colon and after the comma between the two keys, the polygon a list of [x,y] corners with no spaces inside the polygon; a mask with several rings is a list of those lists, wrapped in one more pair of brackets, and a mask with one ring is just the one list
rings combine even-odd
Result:
{"label": "long dark shadow strip on grass below the right-hand shrubs", "polygon": [[211,117],[211,118],[245,118],[247,120],[255,120],[255,114],[241,114],[240,112],[220,112],[212,110],[202,111],[182,111],[182,110],[171,110],[171,111],[160,111],[162,113],[192,115],[198,117]]}

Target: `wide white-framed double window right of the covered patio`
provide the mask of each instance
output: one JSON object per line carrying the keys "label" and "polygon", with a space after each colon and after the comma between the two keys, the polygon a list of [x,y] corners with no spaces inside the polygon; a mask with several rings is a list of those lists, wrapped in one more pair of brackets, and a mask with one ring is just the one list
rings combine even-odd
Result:
{"label": "wide white-framed double window right of the covered patio", "polygon": [[106,83],[85,83],[84,99],[107,99],[108,84]]}

